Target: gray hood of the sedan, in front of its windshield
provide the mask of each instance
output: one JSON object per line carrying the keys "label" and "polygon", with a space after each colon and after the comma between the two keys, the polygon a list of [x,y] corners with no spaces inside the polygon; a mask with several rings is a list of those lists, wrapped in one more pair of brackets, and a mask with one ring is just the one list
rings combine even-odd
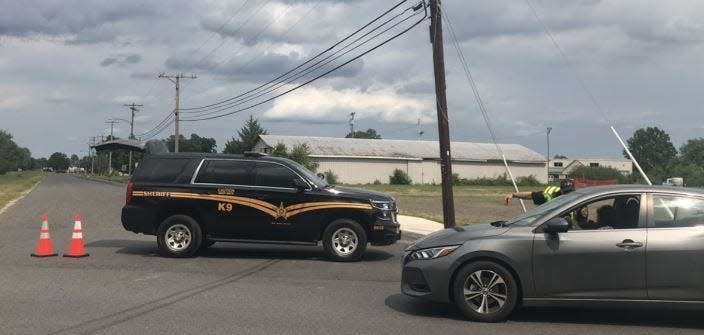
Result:
{"label": "gray hood of the sedan, in front of its windshield", "polygon": [[469,240],[501,235],[509,229],[509,227],[496,227],[488,223],[457,226],[424,236],[415,241],[407,250],[463,244]]}

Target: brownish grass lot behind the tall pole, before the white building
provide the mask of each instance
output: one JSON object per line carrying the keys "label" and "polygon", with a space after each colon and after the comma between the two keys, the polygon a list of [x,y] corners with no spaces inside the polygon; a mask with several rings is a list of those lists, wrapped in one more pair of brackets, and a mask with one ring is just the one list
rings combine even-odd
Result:
{"label": "brownish grass lot behind the tall pole, before the white building", "polygon": [[[442,189],[440,185],[352,185],[388,193],[396,198],[399,214],[442,222]],[[540,188],[540,187],[538,187]],[[508,186],[454,186],[455,222],[469,224],[506,220],[523,212],[518,199],[508,206],[504,196],[513,191]],[[530,191],[526,189],[526,191]],[[526,208],[533,203],[526,201]]]}

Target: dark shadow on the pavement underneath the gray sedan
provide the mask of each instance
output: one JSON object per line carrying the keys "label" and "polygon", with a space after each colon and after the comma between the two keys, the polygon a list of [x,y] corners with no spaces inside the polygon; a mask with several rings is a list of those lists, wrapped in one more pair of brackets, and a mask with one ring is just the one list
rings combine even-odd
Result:
{"label": "dark shadow on the pavement underneath the gray sedan", "polygon": [[[412,316],[466,320],[452,304],[424,301],[407,297],[400,293],[387,297],[384,303],[397,312]],[[704,318],[701,317],[701,310],[685,310],[681,308],[521,308],[516,310],[509,320],[524,323],[704,329]]]}

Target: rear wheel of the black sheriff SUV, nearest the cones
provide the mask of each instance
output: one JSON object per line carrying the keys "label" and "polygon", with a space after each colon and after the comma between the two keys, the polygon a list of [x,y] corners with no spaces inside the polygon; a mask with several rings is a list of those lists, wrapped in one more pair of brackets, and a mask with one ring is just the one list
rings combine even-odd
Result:
{"label": "rear wheel of the black sheriff SUV, nearest the cones", "polygon": [[159,252],[167,257],[191,257],[202,243],[198,222],[187,215],[172,215],[157,230]]}

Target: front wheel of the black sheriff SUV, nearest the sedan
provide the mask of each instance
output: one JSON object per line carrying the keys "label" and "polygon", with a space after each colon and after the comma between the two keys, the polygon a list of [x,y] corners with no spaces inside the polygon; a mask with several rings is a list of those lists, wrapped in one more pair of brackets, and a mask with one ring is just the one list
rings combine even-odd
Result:
{"label": "front wheel of the black sheriff SUV, nearest the sedan", "polygon": [[327,257],[334,261],[359,260],[367,249],[367,233],[357,221],[335,220],[323,232],[323,249]]}

